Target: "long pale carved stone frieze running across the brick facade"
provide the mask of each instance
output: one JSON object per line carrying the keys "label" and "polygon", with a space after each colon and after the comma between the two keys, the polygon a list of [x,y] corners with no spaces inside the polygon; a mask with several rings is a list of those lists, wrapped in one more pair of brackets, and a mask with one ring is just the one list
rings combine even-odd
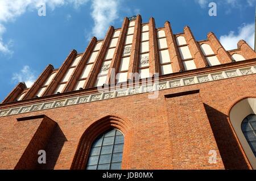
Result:
{"label": "long pale carved stone frieze running across the brick facade", "polygon": [[254,66],[242,68],[242,69],[221,71],[213,74],[204,74],[204,75],[199,75],[194,77],[180,78],[173,81],[156,82],[154,84],[151,83],[150,85],[128,87],[127,89],[122,88],[122,89],[117,89],[115,91],[112,90],[110,92],[97,92],[96,94],[76,96],[73,98],[55,100],[52,102],[45,102],[45,103],[37,103],[29,106],[9,108],[6,110],[0,110],[0,117],[15,115],[19,113],[48,110],[51,108],[57,108],[57,107],[63,107],[63,106],[89,103],[94,101],[117,98],[121,96],[143,94],[145,92],[172,89],[175,87],[194,85],[196,83],[217,81],[220,79],[239,77],[239,76],[249,75],[249,74],[256,74],[256,70]]}

